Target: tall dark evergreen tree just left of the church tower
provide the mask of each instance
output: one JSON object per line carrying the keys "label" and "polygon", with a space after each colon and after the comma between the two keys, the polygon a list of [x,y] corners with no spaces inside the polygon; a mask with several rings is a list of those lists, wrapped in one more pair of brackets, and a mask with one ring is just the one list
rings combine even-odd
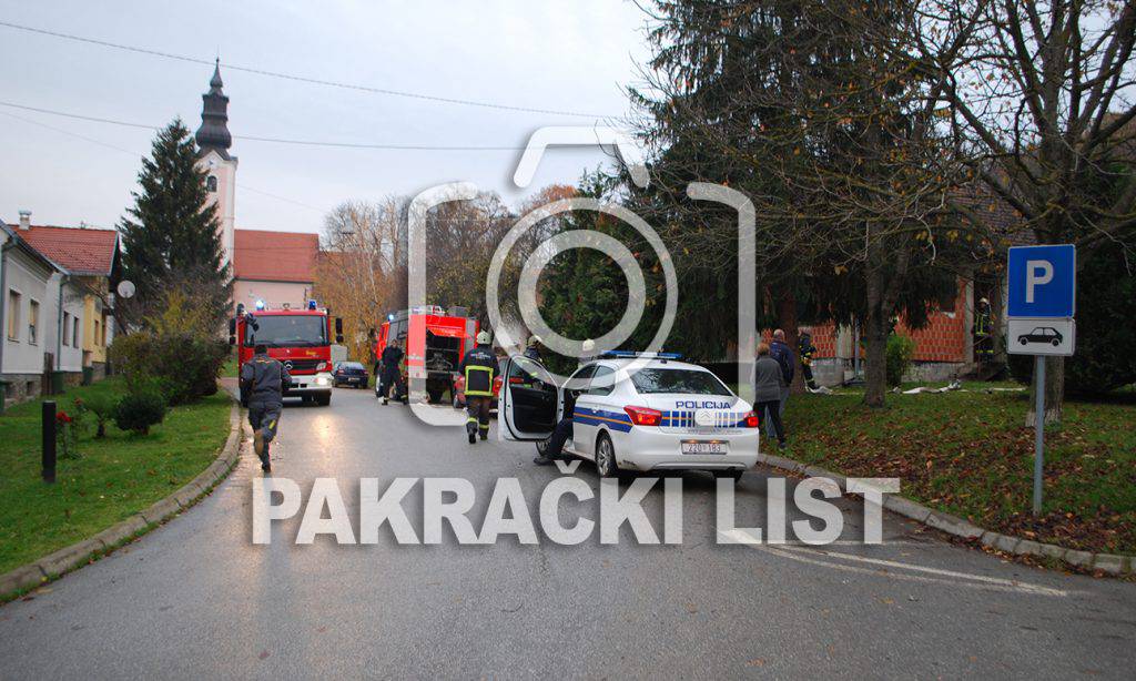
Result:
{"label": "tall dark evergreen tree just left of the church tower", "polygon": [[154,138],[142,160],[134,208],[119,222],[124,277],[137,287],[131,323],[143,323],[167,288],[190,286],[217,322],[232,296],[224,262],[217,209],[208,202],[206,173],[197,166],[197,144],[179,118]]}

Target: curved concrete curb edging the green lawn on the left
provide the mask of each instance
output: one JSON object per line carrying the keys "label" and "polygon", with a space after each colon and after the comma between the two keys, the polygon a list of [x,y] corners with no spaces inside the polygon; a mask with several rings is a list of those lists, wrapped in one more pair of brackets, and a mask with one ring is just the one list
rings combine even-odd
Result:
{"label": "curved concrete curb edging the green lawn on the left", "polygon": [[0,574],[0,604],[110,554],[204,498],[228,477],[241,455],[241,409],[235,400],[229,410],[228,423],[228,438],[217,459],[174,494],[92,537]]}

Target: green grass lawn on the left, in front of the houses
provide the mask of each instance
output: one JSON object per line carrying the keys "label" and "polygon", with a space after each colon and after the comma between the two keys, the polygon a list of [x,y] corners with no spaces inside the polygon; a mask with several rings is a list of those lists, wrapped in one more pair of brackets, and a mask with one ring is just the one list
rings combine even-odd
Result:
{"label": "green grass lawn on the left, in front of the houses", "polygon": [[[55,400],[72,412],[75,396],[122,393],[110,378],[76,387]],[[229,400],[218,393],[177,406],[166,420],[135,436],[107,424],[94,439],[87,414],[81,457],[59,460],[55,485],[40,479],[40,402],[0,415],[0,573],[81,541],[193,479],[212,463],[228,437]]]}

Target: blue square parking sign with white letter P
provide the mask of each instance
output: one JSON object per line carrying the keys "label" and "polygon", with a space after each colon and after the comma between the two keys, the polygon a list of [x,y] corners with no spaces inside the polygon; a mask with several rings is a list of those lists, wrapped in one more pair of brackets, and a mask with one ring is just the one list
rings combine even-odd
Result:
{"label": "blue square parking sign with white letter P", "polygon": [[1009,317],[1072,317],[1077,299],[1077,249],[1014,246],[1009,253]]}

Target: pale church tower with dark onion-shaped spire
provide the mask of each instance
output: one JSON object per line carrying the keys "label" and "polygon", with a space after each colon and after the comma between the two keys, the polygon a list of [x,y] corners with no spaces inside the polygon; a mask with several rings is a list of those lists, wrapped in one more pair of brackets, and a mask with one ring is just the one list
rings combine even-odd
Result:
{"label": "pale church tower with dark onion-shaped spire", "polygon": [[236,215],[236,157],[228,154],[233,136],[228,133],[228,98],[222,91],[223,85],[220,59],[218,59],[214,76],[209,81],[209,92],[201,95],[201,127],[198,128],[195,138],[200,150],[198,163],[208,174],[206,188],[209,191],[209,200],[217,205],[225,263],[232,264]]}

